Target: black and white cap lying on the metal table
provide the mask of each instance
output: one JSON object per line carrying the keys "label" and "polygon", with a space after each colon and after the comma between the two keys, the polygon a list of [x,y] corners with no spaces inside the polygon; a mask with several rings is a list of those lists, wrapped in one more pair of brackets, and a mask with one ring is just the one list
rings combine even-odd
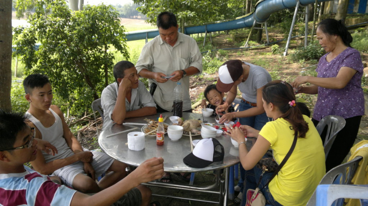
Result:
{"label": "black and white cap lying on the metal table", "polygon": [[215,138],[201,139],[183,161],[185,164],[195,167],[207,167],[213,162],[224,160],[224,147]]}

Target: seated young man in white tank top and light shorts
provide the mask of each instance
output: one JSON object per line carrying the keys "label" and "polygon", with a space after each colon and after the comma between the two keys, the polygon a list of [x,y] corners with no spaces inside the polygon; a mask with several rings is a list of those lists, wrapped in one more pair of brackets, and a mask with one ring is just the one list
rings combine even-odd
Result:
{"label": "seated young man in white tank top and light shorts", "polygon": [[[102,152],[83,151],[70,131],[64,114],[52,105],[53,91],[46,75],[31,74],[23,82],[29,102],[29,125],[36,128],[36,137],[48,140],[58,150],[52,156],[37,153],[33,168],[44,175],[57,175],[61,181],[83,193],[96,193],[123,179],[127,165]],[[110,171],[96,183],[95,178]]]}

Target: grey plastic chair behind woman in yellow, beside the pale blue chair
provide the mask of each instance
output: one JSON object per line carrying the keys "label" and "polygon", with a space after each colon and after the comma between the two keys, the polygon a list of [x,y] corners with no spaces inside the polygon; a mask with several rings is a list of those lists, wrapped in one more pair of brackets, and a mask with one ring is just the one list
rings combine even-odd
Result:
{"label": "grey plastic chair behind woman in yellow, beside the pale blue chair", "polygon": [[[351,161],[332,168],[323,176],[319,184],[350,184],[359,165],[359,161],[362,159],[362,157],[356,157]],[[309,199],[307,206],[315,206],[315,203],[316,191],[313,193],[311,199]]]}

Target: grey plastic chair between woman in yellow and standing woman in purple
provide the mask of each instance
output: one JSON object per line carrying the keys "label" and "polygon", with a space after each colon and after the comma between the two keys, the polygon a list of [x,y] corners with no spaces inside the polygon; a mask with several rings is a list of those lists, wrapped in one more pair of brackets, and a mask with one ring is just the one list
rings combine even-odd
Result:
{"label": "grey plastic chair between woman in yellow and standing woman in purple", "polygon": [[321,135],[325,127],[327,127],[327,134],[323,143],[325,159],[327,159],[327,155],[330,152],[331,146],[334,143],[338,133],[342,130],[342,128],[344,128],[345,123],[345,119],[341,116],[328,115],[323,117],[315,127],[319,135]]}

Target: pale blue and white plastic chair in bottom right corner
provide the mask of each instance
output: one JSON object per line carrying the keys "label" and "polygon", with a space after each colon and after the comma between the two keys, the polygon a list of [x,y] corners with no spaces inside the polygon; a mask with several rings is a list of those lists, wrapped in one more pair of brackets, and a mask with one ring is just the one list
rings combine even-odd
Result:
{"label": "pale blue and white plastic chair in bottom right corner", "polygon": [[316,189],[316,206],[331,206],[339,198],[367,199],[367,185],[321,184]]}

